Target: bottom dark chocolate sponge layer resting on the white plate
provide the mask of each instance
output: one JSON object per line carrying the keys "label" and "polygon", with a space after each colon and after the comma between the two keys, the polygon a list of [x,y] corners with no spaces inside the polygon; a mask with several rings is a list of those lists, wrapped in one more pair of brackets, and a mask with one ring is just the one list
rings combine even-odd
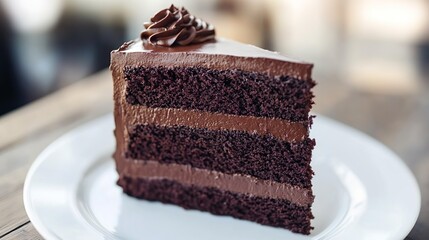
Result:
{"label": "bottom dark chocolate sponge layer resting on the white plate", "polygon": [[301,207],[287,200],[261,198],[221,191],[216,188],[185,186],[170,180],[133,179],[122,176],[118,184],[128,195],[179,205],[185,209],[207,211],[215,215],[282,227],[292,232],[310,234],[310,207]]}

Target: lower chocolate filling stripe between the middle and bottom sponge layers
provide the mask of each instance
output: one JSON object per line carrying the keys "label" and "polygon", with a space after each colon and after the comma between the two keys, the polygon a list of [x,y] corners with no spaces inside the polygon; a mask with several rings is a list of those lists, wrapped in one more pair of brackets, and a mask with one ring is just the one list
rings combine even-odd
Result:
{"label": "lower chocolate filling stripe between the middle and bottom sponge layers", "polygon": [[314,200],[311,189],[240,174],[192,168],[189,165],[126,159],[119,164],[118,171],[121,175],[132,178],[168,179],[185,185],[213,187],[263,198],[286,199],[299,206],[311,205]]}

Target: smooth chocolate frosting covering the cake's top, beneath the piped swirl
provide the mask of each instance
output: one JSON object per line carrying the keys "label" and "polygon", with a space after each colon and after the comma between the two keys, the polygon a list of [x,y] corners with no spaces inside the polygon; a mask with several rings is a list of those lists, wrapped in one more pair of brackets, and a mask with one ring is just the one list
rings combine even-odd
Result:
{"label": "smooth chocolate frosting covering the cake's top, beneath the piped swirl", "polygon": [[202,44],[162,47],[134,40],[112,52],[112,64],[121,67],[204,67],[217,70],[241,69],[290,76],[311,81],[313,64],[296,61],[252,45],[217,38]]}

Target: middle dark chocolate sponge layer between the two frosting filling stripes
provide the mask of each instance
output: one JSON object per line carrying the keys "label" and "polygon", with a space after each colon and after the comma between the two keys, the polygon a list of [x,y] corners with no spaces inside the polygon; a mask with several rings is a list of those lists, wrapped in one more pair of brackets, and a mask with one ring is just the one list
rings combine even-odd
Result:
{"label": "middle dark chocolate sponge layer between the two frosting filling stripes", "polygon": [[314,145],[309,138],[288,143],[241,131],[137,125],[130,132],[126,157],[189,164],[310,188],[313,171],[309,164]]}

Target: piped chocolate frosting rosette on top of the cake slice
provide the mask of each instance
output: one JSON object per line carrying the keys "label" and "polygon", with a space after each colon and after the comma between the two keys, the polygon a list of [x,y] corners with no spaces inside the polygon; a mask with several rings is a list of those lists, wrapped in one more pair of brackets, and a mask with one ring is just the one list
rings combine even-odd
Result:
{"label": "piped chocolate frosting rosette on top of the cake slice", "polygon": [[142,40],[153,45],[170,47],[202,43],[215,38],[214,27],[203,20],[189,14],[185,8],[178,9],[174,5],[159,11],[144,23],[140,34]]}

